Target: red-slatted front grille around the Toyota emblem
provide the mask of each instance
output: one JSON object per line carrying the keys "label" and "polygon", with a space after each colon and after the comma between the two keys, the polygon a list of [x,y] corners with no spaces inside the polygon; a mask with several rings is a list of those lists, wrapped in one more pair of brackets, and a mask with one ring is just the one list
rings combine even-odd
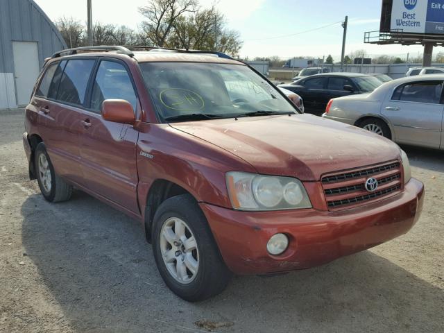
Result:
{"label": "red-slatted front grille around the Toyota emblem", "polygon": [[[365,187],[365,182],[370,176],[377,180],[378,187],[374,192],[367,191]],[[323,176],[321,182],[329,210],[348,208],[400,191],[402,187],[400,163],[393,162],[327,175]]]}

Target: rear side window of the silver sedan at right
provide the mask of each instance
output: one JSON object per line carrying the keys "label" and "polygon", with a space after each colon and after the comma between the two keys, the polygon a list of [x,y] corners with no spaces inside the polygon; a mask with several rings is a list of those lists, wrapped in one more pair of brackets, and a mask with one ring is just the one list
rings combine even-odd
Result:
{"label": "rear side window of the silver sedan at right", "polygon": [[419,82],[400,85],[393,92],[392,100],[439,104],[442,90],[442,82]]}

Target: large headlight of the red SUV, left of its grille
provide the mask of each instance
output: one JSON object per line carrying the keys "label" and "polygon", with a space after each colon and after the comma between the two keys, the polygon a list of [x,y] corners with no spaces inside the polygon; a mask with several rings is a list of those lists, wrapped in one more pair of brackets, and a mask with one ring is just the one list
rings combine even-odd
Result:
{"label": "large headlight of the red SUV, left of its grille", "polygon": [[300,180],[262,176],[255,173],[227,173],[227,187],[236,210],[293,210],[310,208],[311,203]]}

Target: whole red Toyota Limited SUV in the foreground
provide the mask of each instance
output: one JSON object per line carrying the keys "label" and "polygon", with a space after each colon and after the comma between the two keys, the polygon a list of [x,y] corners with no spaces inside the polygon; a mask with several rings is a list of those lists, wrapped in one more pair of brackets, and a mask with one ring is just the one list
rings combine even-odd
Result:
{"label": "whole red Toyota Limited SUV in the foreground", "polygon": [[301,114],[243,62],[196,52],[89,46],[48,60],[23,135],[44,198],[81,189],[140,221],[189,301],[232,273],[309,268],[418,221],[423,185],[396,144]]}

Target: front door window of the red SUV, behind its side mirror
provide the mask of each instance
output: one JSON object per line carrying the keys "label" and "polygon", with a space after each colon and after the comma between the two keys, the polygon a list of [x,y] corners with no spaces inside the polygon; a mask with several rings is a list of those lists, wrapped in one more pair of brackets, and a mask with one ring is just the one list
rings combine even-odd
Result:
{"label": "front door window of the red SUV, behind its side mirror", "polygon": [[128,71],[113,61],[102,61],[92,88],[91,108],[101,110],[105,99],[124,99],[136,109],[137,97]]}

